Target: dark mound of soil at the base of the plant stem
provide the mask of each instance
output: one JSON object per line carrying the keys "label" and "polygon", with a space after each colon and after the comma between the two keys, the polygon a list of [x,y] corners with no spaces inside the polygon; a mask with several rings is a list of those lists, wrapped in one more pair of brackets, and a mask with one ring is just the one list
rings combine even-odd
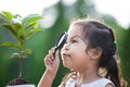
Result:
{"label": "dark mound of soil at the base of the plant stem", "polygon": [[30,84],[30,83],[28,80],[25,80],[24,78],[14,78],[11,82],[9,82],[6,86],[25,85],[25,84]]}

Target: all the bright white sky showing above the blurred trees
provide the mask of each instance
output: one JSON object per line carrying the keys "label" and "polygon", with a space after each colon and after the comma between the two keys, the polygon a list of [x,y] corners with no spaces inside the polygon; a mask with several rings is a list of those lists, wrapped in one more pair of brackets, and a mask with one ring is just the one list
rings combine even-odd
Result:
{"label": "all the bright white sky showing above the blurred trees", "polygon": [[[10,11],[13,14],[42,14],[48,7],[60,0],[0,0],[0,11]],[[76,0],[63,0],[64,4],[74,3]],[[125,28],[130,26],[129,0],[93,0],[95,9],[103,14],[114,16],[119,25]]]}

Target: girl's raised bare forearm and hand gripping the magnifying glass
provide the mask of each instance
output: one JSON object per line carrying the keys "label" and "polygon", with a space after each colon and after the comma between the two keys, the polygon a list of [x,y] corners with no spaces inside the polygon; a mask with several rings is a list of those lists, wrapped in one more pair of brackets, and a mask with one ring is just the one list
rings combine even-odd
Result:
{"label": "girl's raised bare forearm and hand gripping the magnifying glass", "polygon": [[60,64],[58,51],[55,54],[53,54],[53,52],[54,48],[51,49],[49,54],[44,58],[47,69],[38,84],[38,87],[51,87],[53,84]]}

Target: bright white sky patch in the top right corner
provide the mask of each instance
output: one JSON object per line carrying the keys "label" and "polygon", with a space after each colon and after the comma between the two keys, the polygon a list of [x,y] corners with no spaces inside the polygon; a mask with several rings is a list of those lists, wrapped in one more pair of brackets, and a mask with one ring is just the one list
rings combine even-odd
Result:
{"label": "bright white sky patch in the top right corner", "polygon": [[113,15],[125,28],[130,26],[129,0],[93,0],[95,9],[105,14]]}

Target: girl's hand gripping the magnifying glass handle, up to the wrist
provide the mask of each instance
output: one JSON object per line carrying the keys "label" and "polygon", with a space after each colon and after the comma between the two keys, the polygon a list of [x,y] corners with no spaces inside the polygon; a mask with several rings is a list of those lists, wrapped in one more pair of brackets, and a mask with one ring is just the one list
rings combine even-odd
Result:
{"label": "girl's hand gripping the magnifying glass handle, up to the wrist", "polygon": [[55,52],[55,54],[53,53],[54,53],[54,48],[49,50],[49,54],[47,54],[44,58],[44,64],[46,64],[47,71],[56,73],[60,65],[58,50]]}

